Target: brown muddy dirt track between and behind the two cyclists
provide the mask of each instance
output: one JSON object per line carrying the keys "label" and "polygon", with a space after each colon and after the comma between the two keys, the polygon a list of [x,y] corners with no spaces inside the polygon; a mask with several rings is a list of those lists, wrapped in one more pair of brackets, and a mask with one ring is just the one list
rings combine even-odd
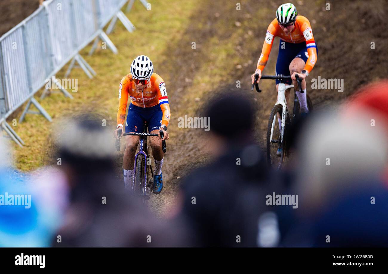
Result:
{"label": "brown muddy dirt track between and behind the two cyclists", "polygon": [[[383,23],[383,15],[388,12],[388,7],[383,2],[376,0],[336,1],[331,4],[330,11],[325,10],[326,6],[322,1],[295,3],[299,14],[310,20],[319,48],[317,65],[308,77],[307,87],[311,87],[311,79],[318,76],[344,79],[344,90],[341,93],[331,89],[308,89],[315,109],[340,103],[351,96],[360,85],[387,77],[388,34],[387,27]],[[260,56],[267,26],[274,19],[274,10],[281,2],[244,1],[241,3],[241,10],[244,12],[236,12],[235,2],[207,1],[204,3],[206,4],[198,6],[197,15],[191,18],[193,22],[191,26],[197,26],[197,22],[203,22],[203,28],[187,29],[187,36],[182,37],[180,42],[181,45],[184,45],[194,40],[197,41],[197,51],[193,52],[188,47],[171,47],[166,51],[167,60],[173,61],[171,67],[176,68],[169,72],[171,79],[175,80],[170,83],[172,85],[169,93],[171,113],[174,117],[183,116],[187,107],[185,104],[191,103],[181,100],[182,94],[195,92],[189,90],[190,85],[185,82],[185,78],[187,75],[195,74],[201,62],[206,58],[204,54],[206,41],[217,36],[222,43],[223,39],[228,39],[234,22],[249,22],[249,26],[242,24],[241,27],[246,29],[246,33],[253,33],[253,35],[244,35],[239,41],[236,41],[235,54],[240,56],[239,64],[242,65],[242,68],[232,68],[230,79],[225,79],[222,86],[215,86],[214,91],[209,92],[206,97],[209,98],[214,93],[221,94],[225,90],[249,93],[249,96],[257,103],[257,138],[258,142],[263,145],[268,115],[276,100],[275,84],[268,81],[263,82],[261,84],[263,92],[258,94],[250,91],[250,75],[254,72]],[[301,5],[301,3],[304,4]],[[255,11],[261,7],[265,7],[263,16],[260,19],[255,18]],[[217,17],[216,13],[220,16]],[[223,21],[222,24],[226,27],[213,28],[216,23],[219,25],[217,21]],[[375,43],[375,49],[371,49],[372,41]],[[274,74],[278,46],[279,38],[275,39],[264,74]],[[252,47],[253,50],[251,50]],[[252,63],[246,65],[249,60]],[[230,70],[230,68],[225,69]],[[241,80],[241,88],[236,88],[236,79]],[[206,102],[206,97],[201,98],[201,101]],[[199,115],[200,112],[200,107],[198,107],[196,113]],[[227,115],[229,114],[225,113],[225,117]],[[160,195],[152,197],[156,212],[173,210],[172,200],[177,194],[182,178],[187,172],[208,160],[204,143],[206,136],[203,135],[201,129],[180,130],[177,128],[177,119],[173,119],[170,122],[169,131],[174,130],[177,132],[174,138],[178,141],[174,147],[168,147],[168,153],[165,156],[166,164],[163,166],[166,184]],[[199,138],[198,135],[204,138]]]}

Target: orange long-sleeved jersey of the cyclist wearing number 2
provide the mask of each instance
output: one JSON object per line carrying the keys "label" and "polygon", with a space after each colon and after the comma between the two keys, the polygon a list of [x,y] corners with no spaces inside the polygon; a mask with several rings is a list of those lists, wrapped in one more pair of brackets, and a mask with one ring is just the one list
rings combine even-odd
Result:
{"label": "orange long-sleeved jersey of the cyclist wearing number 2", "polygon": [[[119,89],[119,108],[117,112],[118,125],[124,124],[128,97],[131,99],[131,106],[133,106],[130,107],[130,110],[136,109],[138,112],[141,111],[142,113],[145,113],[147,110],[152,110],[152,112],[154,112],[159,109],[162,113],[160,117],[157,117],[158,124],[168,125],[171,114],[170,106],[168,104],[166,85],[162,77],[158,74],[153,73],[151,75],[151,79],[144,89],[136,88],[135,83],[133,82],[132,74],[127,74],[123,77],[123,79],[121,79]],[[160,108],[158,108],[157,105],[159,105]],[[130,110],[128,110],[127,124],[130,116]],[[132,123],[132,121],[130,122]],[[139,124],[139,126],[142,125]]]}

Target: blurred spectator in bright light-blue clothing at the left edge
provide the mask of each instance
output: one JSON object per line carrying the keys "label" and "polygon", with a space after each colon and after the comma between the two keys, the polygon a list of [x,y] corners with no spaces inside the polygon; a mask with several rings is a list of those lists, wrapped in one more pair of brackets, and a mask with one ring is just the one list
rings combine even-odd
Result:
{"label": "blurred spectator in bright light-blue clothing at the left edge", "polygon": [[29,176],[12,167],[9,144],[0,137],[0,247],[47,247],[50,229]]}

